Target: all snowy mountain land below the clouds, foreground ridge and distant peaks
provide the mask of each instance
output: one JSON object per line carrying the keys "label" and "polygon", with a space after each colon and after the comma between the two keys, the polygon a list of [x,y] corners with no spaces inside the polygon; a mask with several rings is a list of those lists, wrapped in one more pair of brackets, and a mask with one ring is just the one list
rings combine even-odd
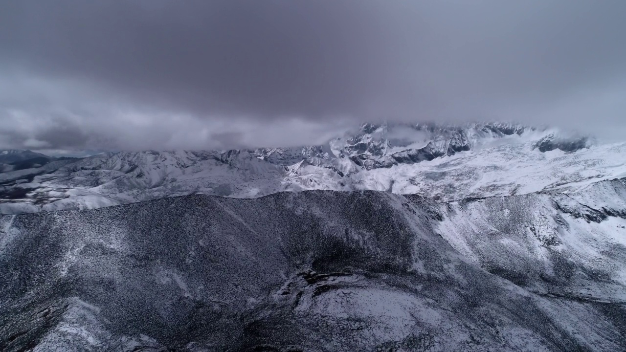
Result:
{"label": "all snowy mountain land below the clouds, foreground ridge and distant peaks", "polygon": [[624,351],[625,147],[472,123],[0,152],[0,350]]}

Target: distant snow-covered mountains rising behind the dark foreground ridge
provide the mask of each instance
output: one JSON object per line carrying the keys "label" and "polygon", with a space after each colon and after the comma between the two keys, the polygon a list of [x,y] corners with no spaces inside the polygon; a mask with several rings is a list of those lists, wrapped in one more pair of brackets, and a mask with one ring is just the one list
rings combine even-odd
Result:
{"label": "distant snow-covered mountains rising behind the dark foreground ridge", "polygon": [[86,209],[186,194],[385,190],[441,200],[576,192],[626,177],[626,143],[510,123],[365,124],[324,145],[118,152],[0,173],[0,212]]}

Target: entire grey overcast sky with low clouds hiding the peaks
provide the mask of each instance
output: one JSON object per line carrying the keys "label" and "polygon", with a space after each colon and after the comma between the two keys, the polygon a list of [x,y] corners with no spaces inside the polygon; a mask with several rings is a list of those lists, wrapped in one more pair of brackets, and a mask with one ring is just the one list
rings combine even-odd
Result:
{"label": "entire grey overcast sky with low clouds hiding the peaks", "polygon": [[320,143],[377,120],[626,140],[623,0],[4,0],[0,148]]}

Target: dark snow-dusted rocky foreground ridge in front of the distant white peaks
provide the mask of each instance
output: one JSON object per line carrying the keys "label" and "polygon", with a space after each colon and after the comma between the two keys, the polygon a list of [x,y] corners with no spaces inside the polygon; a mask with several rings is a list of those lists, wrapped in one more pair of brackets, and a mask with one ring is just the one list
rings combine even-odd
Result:
{"label": "dark snow-dusted rocky foreground ridge in front of the distant white peaks", "polygon": [[623,351],[624,185],[0,217],[0,349]]}

